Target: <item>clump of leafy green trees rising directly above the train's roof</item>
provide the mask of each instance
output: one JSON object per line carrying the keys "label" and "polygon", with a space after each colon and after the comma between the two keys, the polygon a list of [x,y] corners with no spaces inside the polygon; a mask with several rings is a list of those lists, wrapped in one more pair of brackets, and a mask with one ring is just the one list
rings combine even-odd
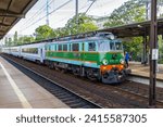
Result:
{"label": "clump of leafy green trees rising directly above the train's roof", "polygon": [[36,40],[42,40],[47,38],[64,37],[68,35],[75,35],[80,33],[93,31],[98,27],[93,23],[92,17],[86,14],[78,14],[78,23],[76,23],[76,16],[68,20],[66,25],[62,28],[52,29],[47,25],[39,26],[35,29]]}

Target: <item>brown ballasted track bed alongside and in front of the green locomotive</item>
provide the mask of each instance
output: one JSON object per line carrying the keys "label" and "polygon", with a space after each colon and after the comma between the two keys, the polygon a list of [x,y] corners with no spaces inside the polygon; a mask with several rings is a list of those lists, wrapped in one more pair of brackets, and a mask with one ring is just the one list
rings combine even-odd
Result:
{"label": "brown ballasted track bed alongside and in front of the green locomotive", "polygon": [[[62,74],[61,72],[49,69],[47,66],[37,65],[28,61],[22,61],[17,58],[8,58],[18,61],[52,81],[55,80],[64,88],[82,96],[82,98],[86,98],[100,107],[148,107],[148,87],[146,85],[140,85],[134,81],[126,81],[116,86],[103,85],[101,82],[90,81],[87,78],[76,78],[76,76],[72,74]],[[146,90],[146,93],[143,90]],[[159,91],[160,94],[163,92],[162,89]],[[62,96],[64,98],[64,93],[61,93],[61,98]],[[163,107],[161,100],[159,100],[156,104],[158,107]]]}

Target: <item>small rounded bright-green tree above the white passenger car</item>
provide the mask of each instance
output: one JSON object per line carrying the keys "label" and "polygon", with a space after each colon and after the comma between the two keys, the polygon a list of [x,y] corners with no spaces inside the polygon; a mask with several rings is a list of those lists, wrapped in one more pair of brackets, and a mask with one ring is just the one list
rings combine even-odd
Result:
{"label": "small rounded bright-green tree above the white passenger car", "polygon": [[36,40],[42,40],[51,38],[53,35],[53,29],[48,25],[39,26],[35,29]]}

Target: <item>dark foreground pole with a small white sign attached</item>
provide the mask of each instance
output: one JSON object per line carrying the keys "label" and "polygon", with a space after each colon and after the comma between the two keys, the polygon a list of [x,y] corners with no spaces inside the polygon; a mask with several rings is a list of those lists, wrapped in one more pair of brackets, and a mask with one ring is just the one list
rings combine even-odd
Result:
{"label": "dark foreground pole with a small white sign attached", "polygon": [[151,0],[151,26],[150,26],[150,86],[149,86],[149,106],[155,107],[155,81],[156,81],[156,60],[158,60],[158,22],[156,22],[156,1]]}

